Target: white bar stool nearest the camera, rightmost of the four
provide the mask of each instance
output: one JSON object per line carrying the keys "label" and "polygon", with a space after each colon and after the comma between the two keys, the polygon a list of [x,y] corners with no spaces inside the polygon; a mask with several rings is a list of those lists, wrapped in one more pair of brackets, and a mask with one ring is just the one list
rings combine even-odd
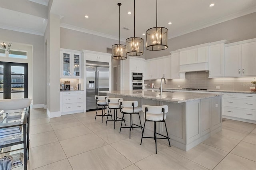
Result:
{"label": "white bar stool nearest the camera, rightmost of the four", "polygon": [[[168,112],[168,106],[167,105],[164,105],[164,106],[142,105],[142,111],[144,112],[145,123],[144,123],[143,131],[142,131],[140,145],[142,144],[142,138],[154,138],[155,143],[156,143],[156,139],[168,139],[169,146],[171,147],[170,138],[168,135],[166,122],[165,122],[166,113]],[[143,136],[146,122],[154,122],[154,137],[144,137]],[[156,132],[156,122],[164,122],[167,136],[164,136],[164,135]],[[160,136],[163,136],[164,138],[158,138],[158,137],[156,137],[156,134],[159,134]],[[156,149],[156,154],[157,154],[157,149]]]}

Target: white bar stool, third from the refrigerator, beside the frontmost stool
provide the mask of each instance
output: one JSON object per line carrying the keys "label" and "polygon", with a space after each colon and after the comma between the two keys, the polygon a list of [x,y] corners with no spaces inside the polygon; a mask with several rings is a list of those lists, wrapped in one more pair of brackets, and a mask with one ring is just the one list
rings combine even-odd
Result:
{"label": "white bar stool, third from the refrigerator, beside the frontmost stool", "polygon": [[[142,131],[142,125],[141,125],[141,121],[140,121],[140,125],[136,125],[134,123],[132,123],[132,115],[138,115],[139,119],[140,119],[140,111],[142,111],[141,107],[138,107],[138,101],[123,101],[120,100],[120,111],[121,113],[123,113],[123,117],[122,117],[122,122],[121,122],[121,127],[120,127],[120,131],[119,133],[121,133],[121,129],[122,128],[130,128],[130,135],[129,138],[131,138],[131,129],[133,128],[141,128]],[[122,127],[122,123],[124,120],[124,115],[125,114],[129,114],[130,115],[130,125],[129,127]],[[137,127],[133,127],[133,125],[137,126]]]}

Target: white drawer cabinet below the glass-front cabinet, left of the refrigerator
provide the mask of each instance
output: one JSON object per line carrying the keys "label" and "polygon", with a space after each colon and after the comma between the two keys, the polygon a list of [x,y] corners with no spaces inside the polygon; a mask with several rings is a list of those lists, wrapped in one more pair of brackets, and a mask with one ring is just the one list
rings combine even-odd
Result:
{"label": "white drawer cabinet below the glass-front cabinet, left of the refrigerator", "polygon": [[64,91],[60,92],[61,115],[84,112],[84,92]]}

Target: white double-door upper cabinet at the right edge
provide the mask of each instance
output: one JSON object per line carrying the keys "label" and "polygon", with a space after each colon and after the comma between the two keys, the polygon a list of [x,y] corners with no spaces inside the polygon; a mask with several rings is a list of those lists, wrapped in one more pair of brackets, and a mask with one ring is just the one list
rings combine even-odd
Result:
{"label": "white double-door upper cabinet at the right edge", "polygon": [[[256,43],[236,42],[225,47],[225,76],[255,76]],[[252,41],[248,40],[248,41]],[[243,43],[244,42],[244,43]],[[238,43],[238,44],[237,44]],[[240,44],[239,44],[240,43]],[[234,45],[233,45],[234,44]]]}

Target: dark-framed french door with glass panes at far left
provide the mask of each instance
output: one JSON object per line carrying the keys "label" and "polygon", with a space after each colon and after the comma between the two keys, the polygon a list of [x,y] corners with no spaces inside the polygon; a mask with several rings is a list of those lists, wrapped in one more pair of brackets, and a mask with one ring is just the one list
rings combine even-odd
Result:
{"label": "dark-framed french door with glass panes at far left", "polygon": [[28,98],[28,64],[0,61],[0,99]]}

